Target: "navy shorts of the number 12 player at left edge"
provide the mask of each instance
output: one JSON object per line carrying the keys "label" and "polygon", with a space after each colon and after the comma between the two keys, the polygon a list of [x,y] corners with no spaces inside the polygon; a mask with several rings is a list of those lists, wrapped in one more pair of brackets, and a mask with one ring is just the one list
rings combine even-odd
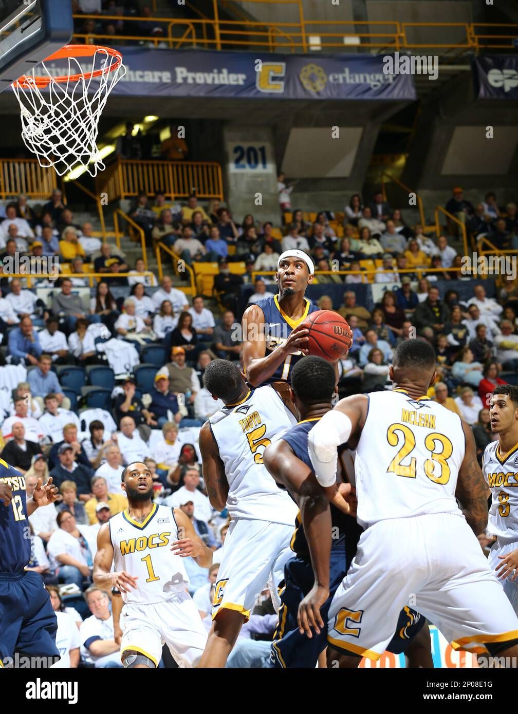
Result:
{"label": "navy shorts of the number 12 player at left edge", "polygon": [[56,613],[39,573],[0,573],[0,666],[15,652],[57,661],[57,628]]}

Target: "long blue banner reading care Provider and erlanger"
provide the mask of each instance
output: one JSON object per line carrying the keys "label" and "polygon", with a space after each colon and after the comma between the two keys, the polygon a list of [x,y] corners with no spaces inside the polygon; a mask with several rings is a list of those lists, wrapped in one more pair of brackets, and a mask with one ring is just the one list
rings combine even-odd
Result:
{"label": "long blue banner reading care Provider and erlanger", "polygon": [[[384,74],[383,56],[309,56],[115,47],[126,65],[117,96],[256,99],[416,98],[410,74]],[[53,76],[67,74],[59,60]],[[89,71],[88,63],[84,71]]]}

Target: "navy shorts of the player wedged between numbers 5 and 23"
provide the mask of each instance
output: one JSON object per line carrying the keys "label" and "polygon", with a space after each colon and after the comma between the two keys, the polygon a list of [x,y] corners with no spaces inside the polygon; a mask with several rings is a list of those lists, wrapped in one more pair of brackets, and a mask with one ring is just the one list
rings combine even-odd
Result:
{"label": "navy shorts of the player wedged between numbers 5 and 23", "polygon": [[[342,536],[343,538],[343,536]],[[320,609],[322,620],[327,625],[327,613],[333,595],[347,573],[351,558],[347,558],[345,548],[340,541],[333,545],[329,564],[329,598]],[[299,603],[314,585],[314,573],[310,560],[292,558],[284,567],[284,588],[281,590],[281,608],[279,624],[275,630],[270,666],[273,668],[313,668],[317,665],[319,654],[327,647],[327,626],[320,634],[313,632],[310,639],[301,635],[297,625]],[[426,620],[411,608],[404,608],[399,613],[396,633],[387,645],[387,650],[394,654],[404,652],[420,632]]]}

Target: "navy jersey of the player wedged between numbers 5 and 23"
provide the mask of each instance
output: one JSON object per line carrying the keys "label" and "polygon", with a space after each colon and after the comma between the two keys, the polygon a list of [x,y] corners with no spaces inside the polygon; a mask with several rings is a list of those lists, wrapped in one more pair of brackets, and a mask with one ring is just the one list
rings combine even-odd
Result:
{"label": "navy jersey of the player wedged between numbers 5 and 23", "polygon": [[[306,419],[299,422],[297,426],[294,426],[282,435],[282,439],[286,441],[292,449],[294,455],[311,469],[313,468],[313,464],[309,458],[307,446],[308,435],[317,421],[319,421],[318,417],[314,419]],[[347,448],[343,446],[339,451],[346,450]],[[347,516],[346,513],[342,513],[342,511],[339,511],[339,509],[335,508],[332,504],[330,504],[330,506],[333,529],[332,548],[342,548],[342,550],[346,550],[349,555],[348,562],[350,562],[352,558],[354,558],[354,554],[357,551],[358,540],[360,535],[362,535],[363,528],[360,528],[355,518]],[[306,540],[306,534],[304,533],[304,528],[302,528],[300,514],[297,515],[295,533],[290,545],[294,553],[297,553],[299,558],[309,558],[309,547]]]}

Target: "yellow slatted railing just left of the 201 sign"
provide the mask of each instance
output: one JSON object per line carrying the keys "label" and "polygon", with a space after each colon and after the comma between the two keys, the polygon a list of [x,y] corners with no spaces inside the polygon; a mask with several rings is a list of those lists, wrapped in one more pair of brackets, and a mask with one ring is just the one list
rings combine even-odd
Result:
{"label": "yellow slatted railing just left of the 201 sign", "polygon": [[134,198],[140,191],[154,196],[163,191],[171,199],[223,198],[221,166],[214,161],[131,161],[117,159],[96,183],[97,192],[108,200]]}

